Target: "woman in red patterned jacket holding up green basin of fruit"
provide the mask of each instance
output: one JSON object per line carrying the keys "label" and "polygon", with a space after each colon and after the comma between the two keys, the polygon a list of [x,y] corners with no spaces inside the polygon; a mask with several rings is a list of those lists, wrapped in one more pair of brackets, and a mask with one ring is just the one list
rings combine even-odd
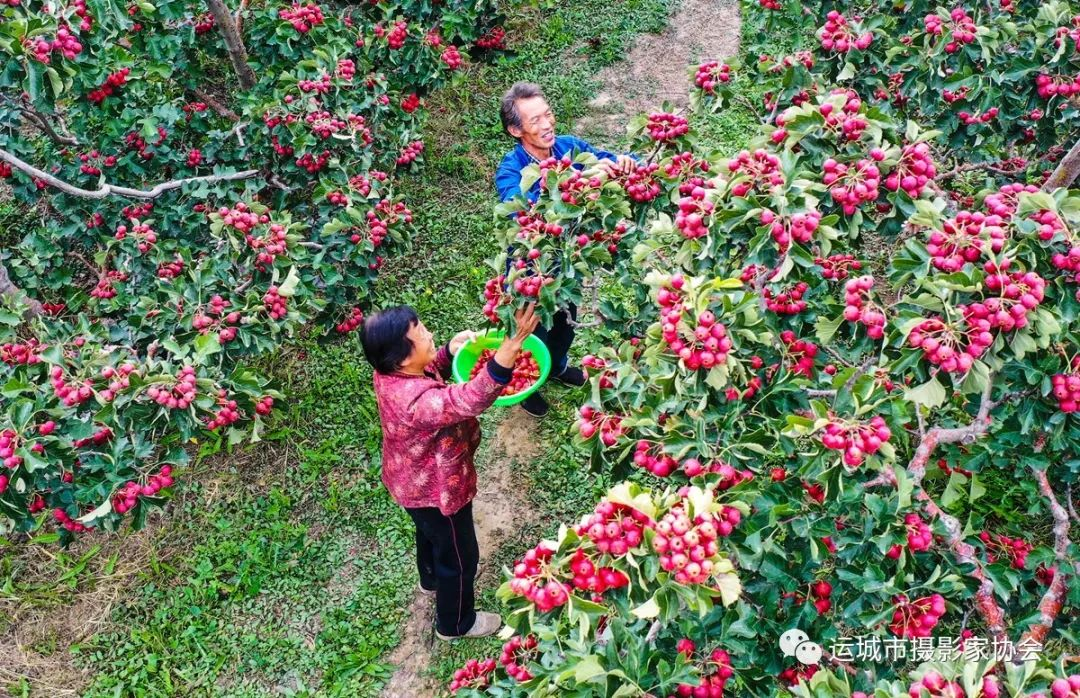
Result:
{"label": "woman in red patterned jacket holding up green basin of fruit", "polygon": [[431,333],[407,306],[364,322],[361,341],[375,367],[382,422],[382,482],[416,523],[420,591],[435,594],[442,640],[482,637],[502,625],[498,614],[474,607],[480,548],[472,519],[473,455],[480,445],[476,416],[510,382],[522,344],[537,327],[532,306],[515,320],[516,331],[507,335],[487,367],[463,385],[447,384],[450,360],[473,333],[458,333],[436,350]]}

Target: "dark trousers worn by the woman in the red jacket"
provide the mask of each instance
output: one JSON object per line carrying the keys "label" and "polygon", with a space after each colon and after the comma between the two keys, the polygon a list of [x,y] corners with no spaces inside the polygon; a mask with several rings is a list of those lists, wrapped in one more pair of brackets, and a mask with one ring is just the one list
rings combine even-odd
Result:
{"label": "dark trousers worn by the woman in the red jacket", "polygon": [[424,589],[435,590],[435,627],[444,635],[463,635],[476,620],[473,582],[480,546],[472,502],[447,516],[434,507],[406,509],[416,524],[416,566]]}

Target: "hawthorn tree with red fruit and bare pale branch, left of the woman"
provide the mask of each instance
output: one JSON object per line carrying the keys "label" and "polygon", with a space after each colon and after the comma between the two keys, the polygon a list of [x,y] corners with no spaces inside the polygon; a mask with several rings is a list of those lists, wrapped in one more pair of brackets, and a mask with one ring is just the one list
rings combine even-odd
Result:
{"label": "hawthorn tree with red fruit and bare pale branch, left of the woman", "polygon": [[[490,2],[8,2],[0,529],[140,525],[190,443],[258,439],[246,364],[347,334],[407,249],[424,95]],[[483,46],[478,44],[483,43]],[[51,510],[46,513],[45,510]]]}

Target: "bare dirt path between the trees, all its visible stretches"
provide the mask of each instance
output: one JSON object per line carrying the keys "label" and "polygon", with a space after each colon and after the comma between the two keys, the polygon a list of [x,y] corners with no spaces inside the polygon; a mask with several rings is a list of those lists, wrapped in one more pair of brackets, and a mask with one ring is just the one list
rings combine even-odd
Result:
{"label": "bare dirt path between the trees, all its visible stretches", "polygon": [[[630,119],[654,110],[664,100],[683,105],[687,100],[687,67],[704,57],[727,57],[739,52],[739,8],[732,0],[684,0],[669,27],[659,35],[646,35],[634,43],[626,59],[605,68],[597,76],[602,88],[591,103],[591,113],[579,120],[576,132],[611,143],[625,131]],[[536,422],[521,410],[511,410],[499,421],[492,447],[480,465],[480,493],[473,516],[480,542],[483,580],[485,560],[523,524],[530,508],[512,466],[537,458],[544,444],[536,440]],[[432,649],[438,642],[432,626],[433,602],[416,594],[409,606],[402,644],[390,656],[397,667],[382,692],[383,698],[434,698],[441,686],[423,675],[431,666]]]}

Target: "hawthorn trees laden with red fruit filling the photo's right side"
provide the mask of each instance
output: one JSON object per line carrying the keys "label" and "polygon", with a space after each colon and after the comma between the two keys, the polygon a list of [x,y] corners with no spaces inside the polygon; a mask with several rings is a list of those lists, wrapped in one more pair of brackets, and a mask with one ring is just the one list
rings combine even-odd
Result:
{"label": "hawthorn trees laden with red fruit filling the photo's right side", "polygon": [[[549,160],[524,173],[536,204],[497,210],[515,214],[510,272],[485,311],[592,307],[616,339],[583,360],[576,443],[647,489],[617,487],[508,571],[508,645],[458,695],[1080,690],[1062,661],[1080,617],[1080,194],[1057,186],[1067,160],[1040,158],[1072,137],[1071,88],[1040,78],[1077,72],[1072,10],[839,10],[770,21],[816,48],[758,62],[772,94],[747,150],[647,115],[635,172]],[[743,98],[734,71],[692,68],[694,107]],[[793,628],[820,661],[785,656]],[[946,635],[969,661],[827,652]]]}

